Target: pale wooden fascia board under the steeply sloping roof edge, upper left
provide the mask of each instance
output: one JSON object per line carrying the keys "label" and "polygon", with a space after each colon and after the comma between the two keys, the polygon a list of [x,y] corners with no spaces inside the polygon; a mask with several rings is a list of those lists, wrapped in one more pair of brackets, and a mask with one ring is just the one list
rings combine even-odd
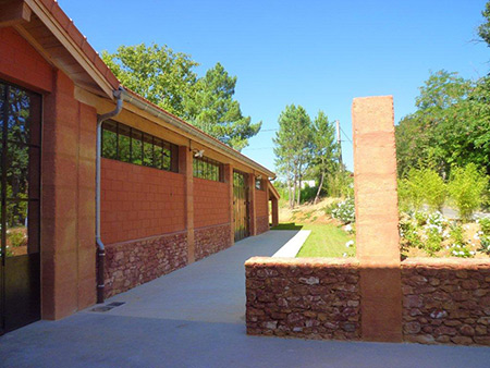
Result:
{"label": "pale wooden fascia board under the steeply sloping roof edge, upper left", "polygon": [[97,85],[109,97],[113,98],[113,88],[107,82],[106,77],[94,65],[93,61],[88,60],[81,48],[73,42],[66,30],[52,20],[49,11],[44,4],[37,0],[25,0],[32,11],[39,17],[39,20],[46,25],[46,27],[54,35],[60,44],[72,54],[72,57],[79,63],[79,65],[94,78]]}

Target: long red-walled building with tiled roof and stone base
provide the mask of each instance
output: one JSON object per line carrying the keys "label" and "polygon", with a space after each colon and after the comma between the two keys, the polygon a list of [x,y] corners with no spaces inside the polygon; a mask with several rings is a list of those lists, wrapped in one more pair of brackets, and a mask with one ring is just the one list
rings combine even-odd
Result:
{"label": "long red-walled building with tiled roof and stone base", "polygon": [[0,1],[0,333],[278,221],[273,172],[121,86],[53,0]]}

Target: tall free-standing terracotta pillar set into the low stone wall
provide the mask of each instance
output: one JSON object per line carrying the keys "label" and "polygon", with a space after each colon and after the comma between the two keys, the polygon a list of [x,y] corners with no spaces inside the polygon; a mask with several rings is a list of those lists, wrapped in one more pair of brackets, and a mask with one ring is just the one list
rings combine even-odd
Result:
{"label": "tall free-standing terracotta pillar set into the low stone wall", "polygon": [[363,340],[402,341],[393,98],[354,99],[356,246]]}

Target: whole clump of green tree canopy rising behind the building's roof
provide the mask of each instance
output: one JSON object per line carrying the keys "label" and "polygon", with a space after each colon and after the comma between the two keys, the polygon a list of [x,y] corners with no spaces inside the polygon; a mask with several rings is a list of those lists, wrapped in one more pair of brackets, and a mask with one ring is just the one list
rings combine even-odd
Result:
{"label": "whole clump of green tree canopy rising behind the building's roof", "polygon": [[233,98],[236,76],[220,63],[199,78],[189,54],[155,44],[120,46],[102,59],[124,86],[237,150],[260,130],[243,115]]}

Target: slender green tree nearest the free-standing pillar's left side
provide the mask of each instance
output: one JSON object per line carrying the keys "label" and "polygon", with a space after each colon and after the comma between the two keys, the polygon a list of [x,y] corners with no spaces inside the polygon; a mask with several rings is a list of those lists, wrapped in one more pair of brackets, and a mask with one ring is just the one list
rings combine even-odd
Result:
{"label": "slender green tree nearest the free-standing pillar's left side", "polygon": [[319,177],[315,204],[318,203],[326,175],[338,170],[339,147],[335,143],[335,127],[327,114],[319,111],[313,123],[311,134],[311,171]]}

